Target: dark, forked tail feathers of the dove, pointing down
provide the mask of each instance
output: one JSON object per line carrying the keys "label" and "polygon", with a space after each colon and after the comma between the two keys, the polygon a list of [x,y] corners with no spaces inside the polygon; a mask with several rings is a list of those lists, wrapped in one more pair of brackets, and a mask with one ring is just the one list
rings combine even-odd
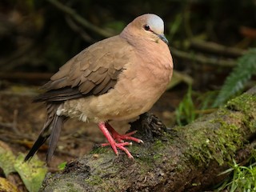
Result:
{"label": "dark, forked tail feathers of the dove, pointing down", "polygon": [[30,160],[34,154],[38,151],[40,146],[46,142],[47,138],[50,137],[49,148],[47,151],[46,162],[50,162],[50,159],[54,155],[54,150],[56,149],[58,138],[62,130],[63,123],[66,119],[65,116],[58,116],[56,111],[58,110],[60,103],[46,103],[47,108],[47,120],[38,136],[36,142],[30,149],[30,152],[26,155],[24,162]]}

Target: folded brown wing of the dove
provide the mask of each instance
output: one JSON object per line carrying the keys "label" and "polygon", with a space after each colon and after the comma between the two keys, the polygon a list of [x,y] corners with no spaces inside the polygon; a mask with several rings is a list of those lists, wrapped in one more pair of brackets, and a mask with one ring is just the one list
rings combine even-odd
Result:
{"label": "folded brown wing of the dove", "polygon": [[131,46],[119,36],[89,46],[66,62],[50,82],[42,86],[46,93],[34,102],[57,102],[88,95],[105,94],[114,87],[118,75],[125,70]]}

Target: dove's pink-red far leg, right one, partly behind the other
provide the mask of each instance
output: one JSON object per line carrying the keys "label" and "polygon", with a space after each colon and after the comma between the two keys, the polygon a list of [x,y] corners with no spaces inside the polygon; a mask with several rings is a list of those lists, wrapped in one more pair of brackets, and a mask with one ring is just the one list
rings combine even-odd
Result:
{"label": "dove's pink-red far leg, right one, partly behind the other", "polygon": [[117,140],[118,142],[123,142],[123,140],[131,140],[134,142],[138,142],[138,143],[142,142],[143,143],[143,141],[141,139],[130,137],[130,135],[133,135],[137,132],[136,130],[130,132],[129,134],[118,134],[118,132],[116,130],[114,130],[114,128],[112,126],[110,126],[109,123],[106,122],[105,125],[106,125],[106,129],[110,131],[113,138],[115,140]]}

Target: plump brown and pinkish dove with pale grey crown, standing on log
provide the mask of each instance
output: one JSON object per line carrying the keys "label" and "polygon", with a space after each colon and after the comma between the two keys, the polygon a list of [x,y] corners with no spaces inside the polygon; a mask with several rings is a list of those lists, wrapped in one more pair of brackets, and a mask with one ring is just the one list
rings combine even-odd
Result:
{"label": "plump brown and pinkish dove with pale grey crown, standing on log", "polygon": [[130,22],[122,33],[106,38],[82,50],[66,62],[50,82],[42,86],[45,93],[34,102],[46,102],[47,120],[25,161],[32,158],[50,138],[46,161],[57,146],[60,131],[67,118],[95,122],[108,144],[118,154],[126,152],[130,134],[118,134],[108,123],[135,118],[150,110],[166,90],[173,61],[163,34],[162,18],[143,14]]}

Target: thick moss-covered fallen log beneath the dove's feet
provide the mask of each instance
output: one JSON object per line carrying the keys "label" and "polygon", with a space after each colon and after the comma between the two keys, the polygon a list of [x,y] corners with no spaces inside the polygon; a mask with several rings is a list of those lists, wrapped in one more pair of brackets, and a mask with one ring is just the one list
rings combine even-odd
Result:
{"label": "thick moss-covered fallen log beneath the dove's feet", "polygon": [[41,191],[210,190],[232,159],[245,163],[255,146],[256,87],[187,126],[165,129],[152,115],[134,126],[145,142],[129,147],[134,160],[98,148],[48,176]]}

